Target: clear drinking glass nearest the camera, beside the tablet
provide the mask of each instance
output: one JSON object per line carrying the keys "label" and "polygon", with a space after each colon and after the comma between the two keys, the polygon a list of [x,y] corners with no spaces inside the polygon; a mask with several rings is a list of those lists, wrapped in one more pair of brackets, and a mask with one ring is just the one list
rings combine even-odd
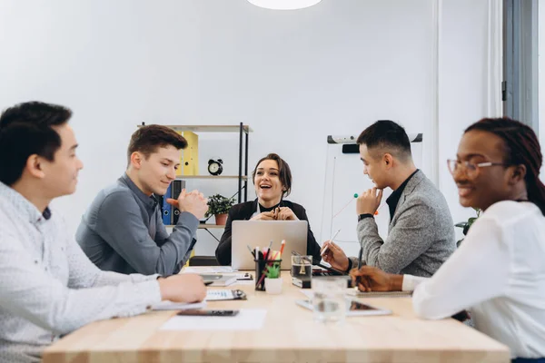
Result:
{"label": "clear drinking glass nearest the camera, beside the tablet", "polygon": [[319,322],[342,322],[346,315],[346,279],[327,277],[312,280],[312,310]]}

